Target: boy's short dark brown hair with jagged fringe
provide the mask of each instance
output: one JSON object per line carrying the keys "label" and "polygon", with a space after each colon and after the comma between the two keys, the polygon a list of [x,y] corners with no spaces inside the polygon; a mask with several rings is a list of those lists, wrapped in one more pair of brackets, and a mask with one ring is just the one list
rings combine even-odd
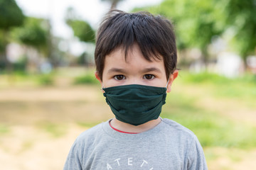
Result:
{"label": "boy's short dark brown hair with jagged fringe", "polygon": [[107,13],[97,32],[95,47],[96,71],[102,79],[105,57],[117,47],[122,47],[125,57],[137,42],[142,55],[164,60],[166,78],[176,69],[177,50],[174,28],[170,21],[151,13],[125,13],[114,10]]}

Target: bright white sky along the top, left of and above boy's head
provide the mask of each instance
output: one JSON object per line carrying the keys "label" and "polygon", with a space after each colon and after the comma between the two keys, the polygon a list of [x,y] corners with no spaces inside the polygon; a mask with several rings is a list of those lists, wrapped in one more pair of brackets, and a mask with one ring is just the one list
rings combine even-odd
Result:
{"label": "bright white sky along the top, left of and above boy's head", "polygon": [[[135,6],[148,6],[160,4],[162,0],[124,0],[118,9],[123,11],[132,10]],[[53,34],[63,38],[73,36],[72,30],[66,26],[64,17],[69,6],[97,28],[102,17],[110,8],[110,4],[100,0],[16,0],[26,16],[50,18],[53,27]]]}

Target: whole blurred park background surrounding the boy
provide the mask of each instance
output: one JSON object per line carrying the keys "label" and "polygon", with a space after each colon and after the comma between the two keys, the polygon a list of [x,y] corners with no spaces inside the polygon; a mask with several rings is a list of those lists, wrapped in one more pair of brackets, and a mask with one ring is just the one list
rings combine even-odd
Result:
{"label": "whole blurred park background surrounding the boy", "polygon": [[161,117],[198,136],[210,170],[256,169],[255,0],[0,0],[1,169],[63,169],[75,138],[113,117],[94,77],[110,8],[174,23],[181,70]]}

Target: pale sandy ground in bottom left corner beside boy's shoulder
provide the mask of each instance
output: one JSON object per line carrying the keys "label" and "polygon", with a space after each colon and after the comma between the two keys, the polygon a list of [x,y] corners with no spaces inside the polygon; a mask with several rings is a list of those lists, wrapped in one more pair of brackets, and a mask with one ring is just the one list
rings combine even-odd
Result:
{"label": "pale sandy ground in bottom left corner beside boy's shoulder", "polygon": [[33,126],[13,126],[8,135],[0,138],[1,169],[63,169],[71,145],[84,130],[85,128],[69,125],[65,135],[53,137]]}

